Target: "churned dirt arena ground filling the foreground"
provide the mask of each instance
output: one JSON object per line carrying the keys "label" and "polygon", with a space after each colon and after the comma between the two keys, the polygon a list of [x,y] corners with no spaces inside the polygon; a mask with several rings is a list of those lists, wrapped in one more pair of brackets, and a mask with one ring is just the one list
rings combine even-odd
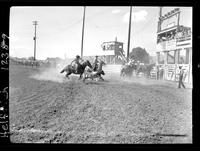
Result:
{"label": "churned dirt arena ground filling the foreground", "polygon": [[192,88],[105,67],[105,81],[11,65],[13,143],[192,143]]}

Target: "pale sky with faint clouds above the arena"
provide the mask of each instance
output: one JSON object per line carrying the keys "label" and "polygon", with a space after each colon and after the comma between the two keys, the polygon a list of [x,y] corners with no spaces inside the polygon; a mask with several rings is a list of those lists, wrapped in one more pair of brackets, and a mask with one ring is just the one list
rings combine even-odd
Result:
{"label": "pale sky with faint clouds above the arena", "polygon": [[[163,7],[162,13],[177,7]],[[181,10],[180,25],[192,27],[192,7]],[[81,54],[83,25],[82,6],[11,7],[10,10],[10,56],[34,56],[34,25],[36,30],[36,59],[47,57],[74,58]],[[83,56],[105,55],[101,44],[107,41],[124,43],[127,51],[129,6],[86,6]],[[159,7],[132,8],[130,50],[145,48],[156,55]]]}

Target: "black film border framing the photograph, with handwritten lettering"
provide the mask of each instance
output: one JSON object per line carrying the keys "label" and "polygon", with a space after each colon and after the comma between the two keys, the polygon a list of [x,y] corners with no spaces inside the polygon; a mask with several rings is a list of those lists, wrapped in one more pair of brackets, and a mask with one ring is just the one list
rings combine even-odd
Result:
{"label": "black film border framing the photograph, with handwritten lettering", "polygon": [[[199,77],[200,77],[200,52],[199,52],[199,28],[200,22],[198,21],[200,3],[198,0],[2,0],[0,1],[0,17],[1,17],[1,28],[0,28],[0,142],[3,144],[11,144],[9,136],[9,16],[10,8],[14,6],[179,6],[179,7],[193,7],[193,49],[192,49],[192,73],[193,73],[193,90],[192,90],[192,119],[193,119],[193,143],[187,145],[189,148],[199,148]],[[7,46],[7,47],[6,47]],[[193,51],[194,50],[194,51]],[[176,144],[177,145],[177,144]],[[173,145],[175,147],[176,145]],[[25,145],[26,146],[26,145]],[[133,147],[133,145],[128,147]],[[137,146],[137,147],[136,147]],[[138,148],[138,145],[134,147]],[[149,148],[149,145],[142,145],[142,148]],[[153,145],[154,147],[161,145]],[[170,148],[164,145],[164,148]],[[179,146],[179,145],[178,145]],[[116,146],[115,146],[116,147]],[[151,145],[152,147],[152,145]],[[163,147],[163,146],[161,146]],[[187,148],[186,146],[183,148]],[[117,147],[118,148],[118,147]],[[180,147],[178,147],[180,148]],[[182,147],[181,147],[182,148]]]}

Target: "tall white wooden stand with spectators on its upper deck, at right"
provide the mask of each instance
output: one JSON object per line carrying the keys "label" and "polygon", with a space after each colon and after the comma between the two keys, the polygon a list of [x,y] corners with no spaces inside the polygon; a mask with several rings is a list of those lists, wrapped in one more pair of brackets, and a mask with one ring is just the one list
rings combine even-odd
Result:
{"label": "tall white wooden stand with spectators on its upper deck, at right", "polygon": [[179,25],[178,8],[160,16],[157,32],[157,66],[163,71],[161,79],[178,81],[179,66],[184,69],[183,82],[192,84],[192,32]]}

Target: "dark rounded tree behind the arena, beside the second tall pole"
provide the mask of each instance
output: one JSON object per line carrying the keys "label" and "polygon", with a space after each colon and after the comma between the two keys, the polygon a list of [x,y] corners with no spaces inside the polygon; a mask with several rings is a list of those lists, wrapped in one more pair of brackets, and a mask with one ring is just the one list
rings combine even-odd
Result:
{"label": "dark rounded tree behind the arena, beside the second tall pole", "polygon": [[131,59],[139,60],[143,63],[149,63],[149,54],[141,47],[133,48],[129,56]]}

